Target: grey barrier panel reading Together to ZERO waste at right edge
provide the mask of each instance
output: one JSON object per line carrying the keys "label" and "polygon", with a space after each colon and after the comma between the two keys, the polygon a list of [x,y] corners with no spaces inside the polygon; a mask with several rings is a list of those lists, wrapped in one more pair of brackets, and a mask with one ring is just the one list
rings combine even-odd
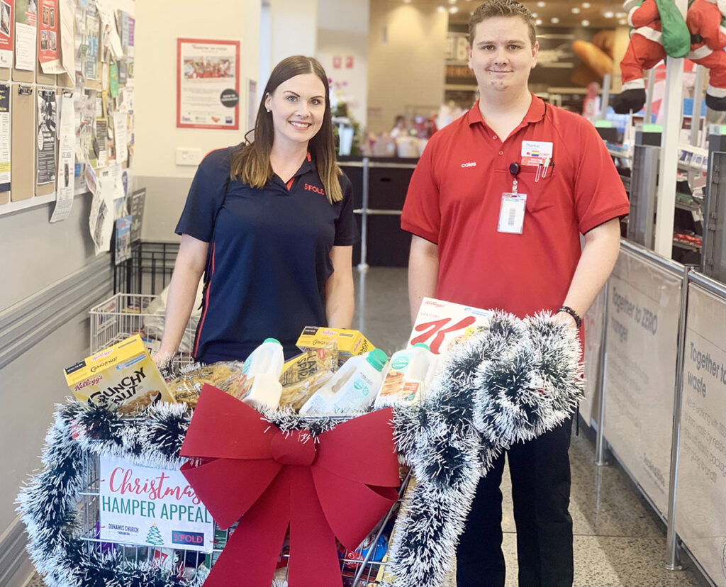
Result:
{"label": "grey barrier panel reading Together to ZERO waste at right edge", "polygon": [[675,526],[726,586],[726,301],[691,285],[686,324]]}

